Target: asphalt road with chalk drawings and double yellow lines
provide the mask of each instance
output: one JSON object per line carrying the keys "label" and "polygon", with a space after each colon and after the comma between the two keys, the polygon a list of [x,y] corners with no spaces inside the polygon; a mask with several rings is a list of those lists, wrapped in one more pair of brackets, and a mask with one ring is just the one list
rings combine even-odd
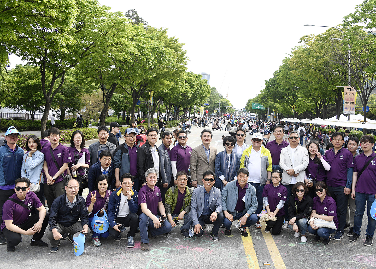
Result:
{"label": "asphalt road with chalk drawings and double yellow lines", "polygon": [[[203,128],[192,128],[188,134],[188,145],[201,143],[200,132]],[[212,146],[223,150],[224,131],[213,132]],[[249,135],[248,135],[249,137]],[[158,142],[158,145],[161,141]],[[250,143],[250,138],[248,143]],[[84,192],[83,196],[86,197]],[[13,253],[6,252],[6,245],[0,245],[1,268],[317,268],[317,269],[368,269],[376,268],[376,249],[363,246],[365,214],[362,235],[357,242],[351,243],[345,236],[341,241],[331,240],[329,245],[314,242],[314,236],[307,233],[307,242],[301,243],[294,237],[294,232],[282,231],[279,236],[264,233],[264,228],[250,227],[248,237],[232,227],[230,236],[224,235],[220,228],[220,240],[214,242],[210,237],[212,225],[205,229],[203,237],[184,238],[179,232],[179,225],[168,235],[150,240],[149,252],[140,249],[140,237],[136,234],[135,248],[127,248],[127,239],[120,242],[112,238],[101,239],[102,246],[94,247],[90,239],[86,240],[85,251],[81,256],[73,254],[73,246],[68,240],[61,243],[59,251],[50,253],[48,248],[30,246],[30,236],[23,236],[23,242],[16,246]],[[180,222],[180,225],[182,223]],[[348,230],[346,230],[347,232]],[[126,237],[124,235],[123,237]],[[49,241],[44,236],[45,242]],[[376,242],[374,243],[376,244]],[[264,262],[271,265],[263,265]]]}

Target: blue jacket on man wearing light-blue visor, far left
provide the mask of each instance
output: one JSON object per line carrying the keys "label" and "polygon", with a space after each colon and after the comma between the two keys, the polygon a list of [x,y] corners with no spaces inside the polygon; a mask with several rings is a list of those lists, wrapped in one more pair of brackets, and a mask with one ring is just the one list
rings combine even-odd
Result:
{"label": "blue jacket on man wearing light-blue visor, far left", "polygon": [[23,149],[17,144],[14,153],[7,143],[0,147],[0,186],[14,185],[14,181],[21,177],[23,155]]}

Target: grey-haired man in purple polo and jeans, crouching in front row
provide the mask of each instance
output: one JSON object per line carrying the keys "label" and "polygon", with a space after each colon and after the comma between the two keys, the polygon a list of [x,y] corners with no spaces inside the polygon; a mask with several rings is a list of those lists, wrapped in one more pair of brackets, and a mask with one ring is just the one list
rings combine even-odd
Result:
{"label": "grey-haired man in purple polo and jeans, crouching in front row", "polygon": [[[138,204],[142,213],[139,215],[141,250],[149,251],[149,237],[155,239],[159,234],[169,233],[171,223],[167,221],[165,208],[162,204],[161,190],[155,185],[158,182],[158,171],[149,168],[145,172],[146,184],[138,192]],[[158,215],[158,210],[161,216]],[[162,221],[164,220],[165,221]],[[150,234],[148,235],[147,230]]]}

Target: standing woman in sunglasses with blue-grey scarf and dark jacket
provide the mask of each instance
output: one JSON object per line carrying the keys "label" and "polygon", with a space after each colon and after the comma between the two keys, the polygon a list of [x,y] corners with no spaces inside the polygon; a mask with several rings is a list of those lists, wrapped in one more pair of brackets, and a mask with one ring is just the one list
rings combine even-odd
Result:
{"label": "standing woman in sunglasses with blue-grey scarf and dark jacket", "polygon": [[221,191],[235,179],[240,167],[240,157],[233,150],[235,143],[236,139],[230,135],[223,138],[224,150],[215,157],[215,187]]}

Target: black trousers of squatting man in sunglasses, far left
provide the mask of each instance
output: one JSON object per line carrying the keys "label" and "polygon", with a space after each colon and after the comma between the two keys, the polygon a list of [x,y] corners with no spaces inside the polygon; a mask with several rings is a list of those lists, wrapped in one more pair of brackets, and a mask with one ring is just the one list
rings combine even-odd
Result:
{"label": "black trousers of squatting man in sunglasses, far left", "polygon": [[[49,214],[46,213],[46,216],[44,217],[44,220],[43,220],[41,231],[33,235],[34,240],[42,239],[44,235],[44,231],[48,225],[48,219],[49,219]],[[39,221],[39,213],[29,216],[26,222],[17,226],[27,231],[28,229],[32,228],[34,224],[37,223],[38,221]],[[5,235],[8,246],[17,246],[22,241],[21,234],[15,233],[13,231],[9,231],[6,227],[3,229],[3,233]]]}

